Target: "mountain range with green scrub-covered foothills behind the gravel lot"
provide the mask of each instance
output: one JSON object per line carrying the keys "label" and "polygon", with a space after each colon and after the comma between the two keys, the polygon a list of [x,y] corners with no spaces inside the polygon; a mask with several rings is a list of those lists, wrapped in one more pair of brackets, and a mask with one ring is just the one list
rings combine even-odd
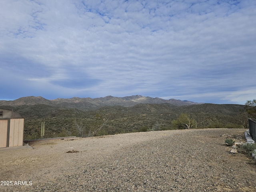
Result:
{"label": "mountain range with green scrub-covered foothills behind the gravel lot", "polygon": [[106,120],[108,123],[98,135],[176,129],[172,121],[180,114],[196,120],[197,128],[242,128],[248,122],[243,105],[203,104],[140,95],[54,100],[28,96],[0,100],[0,108],[14,110],[25,118],[24,139],[27,140],[40,138],[42,122],[45,122],[46,137],[80,136],[78,124],[83,125],[82,136],[88,136],[91,129]]}

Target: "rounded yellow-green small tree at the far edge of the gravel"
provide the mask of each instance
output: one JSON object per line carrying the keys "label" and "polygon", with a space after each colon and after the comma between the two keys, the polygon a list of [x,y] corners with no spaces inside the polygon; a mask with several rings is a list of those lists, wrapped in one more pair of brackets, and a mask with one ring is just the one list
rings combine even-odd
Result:
{"label": "rounded yellow-green small tree at the far edge of the gravel", "polygon": [[191,116],[188,116],[185,113],[180,114],[178,119],[172,121],[172,126],[176,128],[186,128],[190,129],[193,126],[196,127],[196,120],[194,120]]}

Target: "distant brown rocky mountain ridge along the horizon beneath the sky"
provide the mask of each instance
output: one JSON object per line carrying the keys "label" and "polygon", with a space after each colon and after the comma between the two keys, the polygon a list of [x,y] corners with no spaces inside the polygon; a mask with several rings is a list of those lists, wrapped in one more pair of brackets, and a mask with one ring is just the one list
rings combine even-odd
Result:
{"label": "distant brown rocky mountain ridge along the horizon beneath the sky", "polygon": [[54,100],[47,100],[41,96],[27,96],[27,97],[21,97],[12,101],[0,100],[0,106],[22,106],[22,105],[32,106],[37,104],[45,104],[48,106],[77,108],[84,111],[94,110],[103,106],[131,107],[137,104],[164,104],[164,103],[172,104],[174,106],[202,104],[202,103],[196,103],[196,102],[191,102],[187,100],[184,100],[184,101],[176,100],[176,99],[165,100],[158,97],[152,98],[152,97],[141,96],[141,95],[126,96],[126,97],[106,96],[101,98],[73,97],[69,99],[57,98]]}

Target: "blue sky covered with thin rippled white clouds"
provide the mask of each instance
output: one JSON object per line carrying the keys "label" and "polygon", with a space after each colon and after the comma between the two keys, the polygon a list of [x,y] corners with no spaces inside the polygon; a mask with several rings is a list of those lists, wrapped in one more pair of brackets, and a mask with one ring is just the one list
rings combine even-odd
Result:
{"label": "blue sky covered with thin rippled white clouds", "polygon": [[0,100],[256,99],[255,0],[1,0]]}

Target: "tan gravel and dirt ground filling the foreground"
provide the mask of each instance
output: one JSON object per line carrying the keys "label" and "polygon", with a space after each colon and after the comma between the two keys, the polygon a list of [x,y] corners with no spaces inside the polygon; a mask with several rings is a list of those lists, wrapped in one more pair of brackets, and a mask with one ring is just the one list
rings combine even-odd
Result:
{"label": "tan gravel and dirt ground filling the foreground", "polygon": [[244,132],[168,130],[36,142],[32,150],[0,151],[0,180],[12,181],[0,191],[255,192],[255,162],[224,144],[226,138],[245,142]]}

